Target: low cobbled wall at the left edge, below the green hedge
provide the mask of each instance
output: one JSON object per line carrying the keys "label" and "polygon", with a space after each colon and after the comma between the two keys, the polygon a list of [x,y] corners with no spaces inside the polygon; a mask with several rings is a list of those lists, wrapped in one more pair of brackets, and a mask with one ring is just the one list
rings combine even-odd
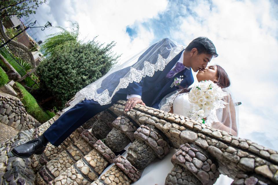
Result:
{"label": "low cobbled wall at the left edge, below the green hedge", "polygon": [[0,122],[17,130],[38,127],[40,123],[29,115],[20,99],[0,92]]}

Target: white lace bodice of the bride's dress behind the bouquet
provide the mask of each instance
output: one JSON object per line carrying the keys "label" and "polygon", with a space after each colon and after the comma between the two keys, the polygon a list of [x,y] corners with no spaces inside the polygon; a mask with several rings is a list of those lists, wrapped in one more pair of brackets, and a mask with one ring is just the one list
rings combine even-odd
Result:
{"label": "white lace bodice of the bride's dress behind the bouquet", "polygon": [[[165,112],[169,112],[171,107],[173,106],[173,113],[179,114],[186,117],[191,117],[191,108],[190,108],[190,101],[189,101],[189,93],[181,93],[179,91],[175,92],[171,96],[167,97],[166,99],[162,99],[160,103],[160,110]],[[213,110],[211,110],[209,116],[207,116],[207,120],[205,121],[206,125],[211,126],[213,122],[221,122],[222,121],[222,114],[223,108],[225,107],[225,102],[220,101]]]}

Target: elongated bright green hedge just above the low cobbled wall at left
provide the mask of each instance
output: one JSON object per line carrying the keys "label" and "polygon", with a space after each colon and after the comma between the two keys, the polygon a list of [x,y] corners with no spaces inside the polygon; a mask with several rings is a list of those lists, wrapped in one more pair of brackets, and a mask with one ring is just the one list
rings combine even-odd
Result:
{"label": "elongated bright green hedge just above the low cobbled wall at left", "polygon": [[25,106],[28,114],[33,116],[40,123],[44,123],[51,119],[50,114],[45,113],[37,103],[36,99],[18,82],[13,86],[19,95],[19,99]]}

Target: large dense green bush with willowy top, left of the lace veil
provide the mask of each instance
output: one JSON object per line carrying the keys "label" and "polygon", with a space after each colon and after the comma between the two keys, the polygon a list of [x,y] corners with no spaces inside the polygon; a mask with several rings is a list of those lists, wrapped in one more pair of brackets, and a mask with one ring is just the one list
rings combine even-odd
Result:
{"label": "large dense green bush with willowy top, left of the lace veil", "polygon": [[119,57],[111,51],[114,42],[103,46],[96,37],[89,42],[78,41],[78,24],[74,24],[74,31],[62,29],[46,40],[42,48],[47,57],[37,68],[40,90],[50,92],[54,96],[52,107],[59,109],[77,91],[105,75]]}

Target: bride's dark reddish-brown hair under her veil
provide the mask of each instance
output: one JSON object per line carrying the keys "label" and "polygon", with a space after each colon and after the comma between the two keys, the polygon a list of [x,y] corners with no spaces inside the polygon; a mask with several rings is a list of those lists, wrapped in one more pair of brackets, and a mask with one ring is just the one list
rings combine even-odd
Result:
{"label": "bride's dark reddish-brown hair under her veil", "polygon": [[[216,83],[221,88],[226,88],[231,85],[230,79],[226,71],[220,66],[216,65],[217,67],[217,82]],[[180,91],[180,93],[189,92],[191,88],[184,88]]]}

